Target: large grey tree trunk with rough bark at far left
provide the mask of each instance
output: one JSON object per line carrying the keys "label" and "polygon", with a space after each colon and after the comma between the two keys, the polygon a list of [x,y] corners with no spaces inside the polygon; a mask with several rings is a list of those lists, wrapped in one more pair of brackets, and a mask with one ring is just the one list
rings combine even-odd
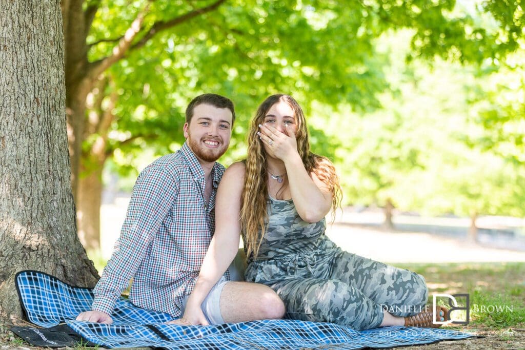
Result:
{"label": "large grey tree trunk with rough bark at far left", "polygon": [[14,275],[93,287],[80,245],[66,134],[60,2],[0,0],[0,322],[22,317]]}

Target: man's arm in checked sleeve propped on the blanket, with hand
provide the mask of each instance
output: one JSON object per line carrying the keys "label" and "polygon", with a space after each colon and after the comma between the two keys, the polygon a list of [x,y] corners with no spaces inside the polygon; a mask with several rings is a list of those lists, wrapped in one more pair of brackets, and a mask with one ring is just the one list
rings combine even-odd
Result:
{"label": "man's arm in checked sleeve propped on the blanket, with hand", "polygon": [[151,240],[173,206],[178,186],[177,179],[163,168],[146,168],[139,175],[120,237],[95,287],[92,311],[79,314],[77,320],[112,322],[114,305],[144,260]]}

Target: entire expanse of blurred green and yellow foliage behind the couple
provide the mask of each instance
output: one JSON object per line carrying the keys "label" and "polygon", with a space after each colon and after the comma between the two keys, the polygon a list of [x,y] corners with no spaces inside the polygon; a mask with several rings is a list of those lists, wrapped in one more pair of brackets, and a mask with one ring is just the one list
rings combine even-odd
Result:
{"label": "entire expanse of blurred green and yellow foliage behind the couple", "polygon": [[[99,3],[91,61],[146,4],[148,27],[213,2]],[[312,151],[337,165],[346,204],[392,198],[406,210],[521,216],[523,19],[510,0],[225,2],[104,73],[104,95],[118,94],[107,170],[135,177],[176,151],[184,109],[202,92],[236,103],[220,160],[230,164],[245,155],[257,105],[285,92],[307,114]]]}

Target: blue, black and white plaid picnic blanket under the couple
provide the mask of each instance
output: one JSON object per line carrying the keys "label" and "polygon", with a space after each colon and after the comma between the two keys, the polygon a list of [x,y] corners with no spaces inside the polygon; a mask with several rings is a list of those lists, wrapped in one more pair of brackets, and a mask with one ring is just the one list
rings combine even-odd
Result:
{"label": "blue, black and white plaid picnic blanket under the couple", "polygon": [[122,298],[113,324],[75,321],[90,310],[93,292],[39,271],[21,271],[16,286],[27,320],[40,327],[66,324],[85,340],[108,348],[165,349],[362,349],[460,340],[475,335],[416,327],[381,327],[362,332],[321,322],[261,320],[213,326],[164,324],[168,314],[140,309]]}

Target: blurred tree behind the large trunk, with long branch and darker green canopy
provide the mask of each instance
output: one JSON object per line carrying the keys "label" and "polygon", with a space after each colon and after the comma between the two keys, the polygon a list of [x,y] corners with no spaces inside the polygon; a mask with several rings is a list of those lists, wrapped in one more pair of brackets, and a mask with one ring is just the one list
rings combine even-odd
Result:
{"label": "blurred tree behind the large trunk, with long branch and darker green canopy", "polygon": [[[187,100],[202,91],[235,99],[241,117],[235,135],[243,133],[261,97],[274,92],[329,105],[345,102],[358,110],[376,108],[375,94],[386,84],[382,69],[370,69],[376,54],[371,43],[386,30],[414,28],[414,57],[439,55],[464,62],[490,56],[495,40],[501,41],[480,28],[470,14],[457,12],[453,0],[62,4],[73,188],[79,231],[89,248],[98,246],[99,235],[96,227],[86,225],[99,221],[95,208],[104,157],[95,161],[90,156],[98,137],[112,145],[104,153],[106,159],[120,143],[122,151],[129,152],[128,146],[143,148],[152,139],[159,140],[157,144],[169,137],[180,139],[180,131],[164,126],[178,127]],[[92,128],[86,98],[106,76],[112,77],[114,88],[97,89],[104,92],[98,101],[118,97],[113,122],[110,128]],[[149,128],[158,125],[159,133],[144,132],[141,122],[148,122]],[[100,132],[91,137],[92,130]],[[166,148],[175,147],[164,143],[161,149]],[[85,172],[81,176],[80,168]],[[78,186],[83,179],[86,184]],[[77,195],[77,189],[83,194]]]}

